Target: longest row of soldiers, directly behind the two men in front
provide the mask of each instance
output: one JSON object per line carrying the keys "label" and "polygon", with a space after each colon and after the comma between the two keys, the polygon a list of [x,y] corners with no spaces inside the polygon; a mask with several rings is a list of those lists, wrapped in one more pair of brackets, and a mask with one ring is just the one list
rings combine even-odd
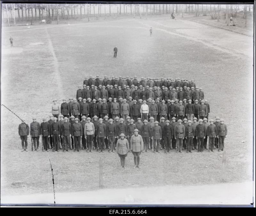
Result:
{"label": "longest row of soldiers, directly behind the two men in front", "polygon": [[59,118],[60,120],[57,121],[58,119],[51,115],[48,121],[43,118],[41,124],[36,121],[36,118],[33,118],[30,128],[23,121],[19,125],[22,151],[27,151],[29,133],[36,151],[38,151],[41,136],[43,151],[48,151],[51,147],[52,151],[74,149],[79,152],[81,149],[87,149],[87,152],[92,152],[93,149],[97,149],[102,152],[104,148],[108,148],[109,152],[115,152],[120,134],[124,134],[130,143],[134,131],[137,130],[143,139],[143,152],[152,149],[154,153],[163,148],[165,153],[169,153],[173,148],[180,153],[184,149],[187,152],[191,152],[193,149],[202,152],[208,148],[212,152],[214,152],[214,148],[223,150],[224,139],[227,135],[227,126],[219,117],[216,117],[216,121],[211,119],[210,123],[207,122],[207,118],[197,121],[196,117],[193,118],[193,122],[187,118],[176,121],[176,118],[172,117],[170,121],[161,117],[160,123],[152,116],[149,118],[149,122],[147,119],[141,121],[141,118],[137,118],[136,123],[130,116],[125,119],[116,116],[114,120],[109,119],[108,116],[104,116],[104,120],[99,119],[98,116],[93,116],[93,119],[82,116],[80,122],[75,116],[70,116],[70,121],[63,115],[60,115]]}

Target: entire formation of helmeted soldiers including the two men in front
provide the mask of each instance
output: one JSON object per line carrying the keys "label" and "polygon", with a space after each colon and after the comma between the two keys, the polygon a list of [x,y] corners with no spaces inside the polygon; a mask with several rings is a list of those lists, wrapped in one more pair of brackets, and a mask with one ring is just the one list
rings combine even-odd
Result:
{"label": "entire formation of helmeted soldiers including the two men in front", "polygon": [[[214,152],[224,149],[227,126],[216,117],[208,119],[210,105],[195,80],[97,76],[85,78],[76,97],[53,100],[50,119],[36,118],[30,127],[22,122],[19,135],[27,151],[30,133],[32,150],[98,152],[117,151],[121,165],[132,151],[139,167],[140,152]],[[25,144],[24,144],[25,143]]]}

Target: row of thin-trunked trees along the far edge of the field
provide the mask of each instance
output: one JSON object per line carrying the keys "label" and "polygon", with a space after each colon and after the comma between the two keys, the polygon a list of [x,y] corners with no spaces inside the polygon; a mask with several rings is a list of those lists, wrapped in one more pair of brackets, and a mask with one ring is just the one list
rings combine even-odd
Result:
{"label": "row of thin-trunked trees along the far edge of the field", "polygon": [[[234,5],[239,11],[242,9],[241,5]],[[89,17],[111,16],[111,15],[131,15],[135,16],[148,16],[156,14],[168,13],[195,13],[199,16],[202,10],[203,15],[206,12],[215,12],[216,7],[220,11],[225,5],[216,4],[3,4],[3,10],[9,24],[9,18],[13,20],[14,24],[17,21],[23,20],[57,20],[59,19],[72,19],[72,18],[86,18]],[[226,10],[227,10],[226,5]],[[233,5],[230,5],[232,10]],[[246,5],[246,10],[251,6]],[[4,16],[4,13],[2,13]]]}

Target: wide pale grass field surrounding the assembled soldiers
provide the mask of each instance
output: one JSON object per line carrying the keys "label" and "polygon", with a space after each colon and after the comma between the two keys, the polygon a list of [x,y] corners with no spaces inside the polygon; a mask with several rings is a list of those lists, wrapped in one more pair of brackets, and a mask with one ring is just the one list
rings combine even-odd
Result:
{"label": "wide pale grass field surrounding the assembled soldiers", "polygon": [[[41,123],[51,114],[53,98],[61,103],[62,98],[75,97],[78,84],[90,75],[194,78],[210,103],[210,116],[224,118],[228,127],[226,181],[248,181],[253,147],[252,42],[249,36],[167,17],[6,27],[1,102],[29,124],[33,116]],[[1,108],[1,195],[51,193],[49,159],[57,192],[98,188],[100,156],[105,188],[221,181],[222,152],[216,151],[143,153],[141,169],[132,169],[133,156],[128,154],[125,170],[116,153],[31,152],[30,138],[30,151],[21,152],[20,120]],[[23,182],[22,187],[13,182]]]}

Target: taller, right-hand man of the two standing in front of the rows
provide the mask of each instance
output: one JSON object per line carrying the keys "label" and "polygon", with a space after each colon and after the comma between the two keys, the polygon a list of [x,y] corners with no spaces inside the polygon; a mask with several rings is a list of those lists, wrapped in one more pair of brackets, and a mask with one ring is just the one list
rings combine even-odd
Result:
{"label": "taller, right-hand man of the two standing in front of the rows", "polygon": [[134,167],[133,168],[140,168],[140,152],[143,150],[143,140],[142,137],[139,135],[139,130],[134,130],[134,135],[132,135],[130,140],[130,146],[132,147],[132,154],[134,159]]}

